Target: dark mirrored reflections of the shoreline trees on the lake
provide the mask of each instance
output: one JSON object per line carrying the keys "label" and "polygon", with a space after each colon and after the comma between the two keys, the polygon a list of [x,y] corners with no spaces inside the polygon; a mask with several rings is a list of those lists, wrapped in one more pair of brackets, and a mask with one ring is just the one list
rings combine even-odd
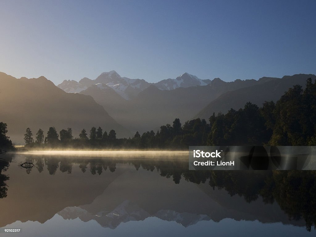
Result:
{"label": "dark mirrored reflections of the shoreline trees on the lake", "polygon": [[[0,160],[0,168],[8,167],[9,162]],[[58,167],[61,172],[71,174],[76,165],[85,173],[101,175],[109,169],[115,172],[117,164],[131,164],[136,170],[156,170],[161,176],[172,178],[175,184],[183,179],[196,184],[206,183],[212,189],[224,189],[231,196],[239,195],[250,203],[262,198],[266,204],[277,202],[290,219],[306,222],[310,231],[316,224],[316,171],[223,171],[223,170],[188,170],[188,161],[177,159],[119,159],[119,158],[72,158],[65,156],[26,156],[32,161],[38,172],[46,168],[49,174],[56,174]],[[9,177],[1,174],[0,197],[6,197]],[[27,171],[28,173],[30,172]]]}

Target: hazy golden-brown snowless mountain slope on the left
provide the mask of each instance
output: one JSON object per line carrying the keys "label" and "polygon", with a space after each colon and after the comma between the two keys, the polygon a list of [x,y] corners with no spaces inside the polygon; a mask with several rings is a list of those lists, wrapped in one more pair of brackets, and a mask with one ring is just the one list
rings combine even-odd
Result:
{"label": "hazy golden-brown snowless mountain slope on the left", "polygon": [[49,127],[72,128],[73,136],[93,126],[114,129],[118,137],[130,136],[91,96],[70,94],[57,88],[44,76],[16,79],[0,73],[0,114],[8,125],[13,142],[23,142],[26,128],[35,134],[40,128],[45,134]]}

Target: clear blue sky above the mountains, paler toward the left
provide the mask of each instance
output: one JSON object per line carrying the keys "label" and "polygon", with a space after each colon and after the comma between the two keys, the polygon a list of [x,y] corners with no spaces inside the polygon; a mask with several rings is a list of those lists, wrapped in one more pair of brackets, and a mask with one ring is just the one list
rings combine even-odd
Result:
{"label": "clear blue sky above the mountains, paler toward the left", "polygon": [[20,78],[316,73],[316,1],[0,1],[0,71]]}

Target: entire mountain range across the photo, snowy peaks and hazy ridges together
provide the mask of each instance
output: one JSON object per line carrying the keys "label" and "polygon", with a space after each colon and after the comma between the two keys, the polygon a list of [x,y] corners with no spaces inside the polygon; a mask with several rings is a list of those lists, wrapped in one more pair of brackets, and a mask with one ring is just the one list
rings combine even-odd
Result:
{"label": "entire mountain range across the photo, snowy peaks and hazy ridges together", "polygon": [[280,99],[295,84],[304,87],[309,77],[316,79],[313,74],[296,74],[224,82],[184,73],[149,83],[110,71],[94,80],[84,77],[55,86],[44,76],[17,79],[0,73],[0,115],[15,143],[23,143],[27,127],[33,133],[51,126],[57,131],[71,127],[78,137],[83,128],[89,132],[101,126],[103,131],[114,129],[118,137],[132,137],[136,131],[156,132],[175,118],[183,124],[194,118],[207,120],[214,112],[238,110],[248,101],[262,106],[264,101]]}

